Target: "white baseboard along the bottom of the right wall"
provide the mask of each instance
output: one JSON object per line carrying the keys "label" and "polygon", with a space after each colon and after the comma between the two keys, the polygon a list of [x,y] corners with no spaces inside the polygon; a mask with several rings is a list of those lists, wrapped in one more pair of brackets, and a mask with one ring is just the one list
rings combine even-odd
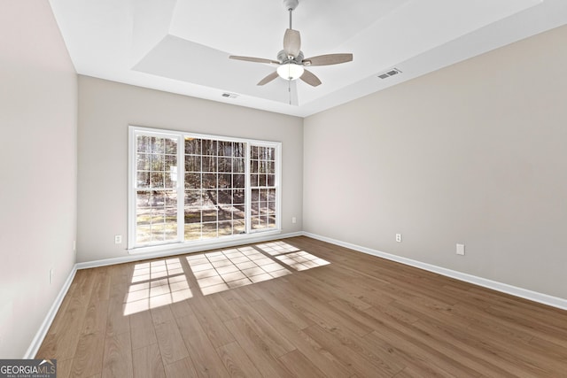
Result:
{"label": "white baseboard along the bottom of the right wall", "polygon": [[354,251],[360,251],[363,253],[367,253],[369,255],[377,256],[379,258],[385,258],[388,260],[396,261],[407,266],[414,266],[423,270],[427,270],[429,272],[445,275],[447,277],[454,278],[455,280],[470,282],[475,285],[500,291],[502,293],[506,293],[515,297],[522,297],[524,299],[528,299],[533,302],[538,302],[543,305],[550,305],[553,307],[560,308],[562,310],[567,310],[567,299],[563,299],[560,297],[548,296],[547,294],[542,294],[537,291],[518,288],[516,286],[512,286],[507,283],[496,282],[482,277],[478,277],[476,275],[457,272],[455,270],[447,269],[441,266],[434,266],[411,258],[402,258],[400,256],[392,255],[391,253],[372,250],[370,248],[361,247],[360,245],[346,243],[340,240],[332,239],[327,236],[311,234],[308,232],[304,232],[303,235],[317,240],[321,240],[322,242],[339,245],[341,247],[345,247]]}

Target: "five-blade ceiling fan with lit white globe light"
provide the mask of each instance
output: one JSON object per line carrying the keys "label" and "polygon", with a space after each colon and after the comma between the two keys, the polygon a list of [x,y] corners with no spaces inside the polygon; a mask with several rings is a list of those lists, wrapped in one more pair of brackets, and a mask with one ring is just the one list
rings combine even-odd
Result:
{"label": "five-blade ceiling fan with lit white globe light", "polygon": [[258,82],[258,85],[268,84],[278,76],[286,81],[300,79],[307,84],[316,87],[321,81],[314,73],[307,71],[306,66],[330,66],[346,63],[353,60],[353,54],[328,54],[319,55],[317,57],[304,58],[301,51],[301,36],[298,30],[291,27],[291,13],[297,8],[299,0],[283,0],[283,6],[290,12],[290,27],[285,30],[283,35],[283,50],[277,53],[277,60],[265,58],[239,57],[235,55],[229,56],[231,59],[245,60],[254,63],[268,63],[277,65],[275,72],[268,74],[264,79]]}

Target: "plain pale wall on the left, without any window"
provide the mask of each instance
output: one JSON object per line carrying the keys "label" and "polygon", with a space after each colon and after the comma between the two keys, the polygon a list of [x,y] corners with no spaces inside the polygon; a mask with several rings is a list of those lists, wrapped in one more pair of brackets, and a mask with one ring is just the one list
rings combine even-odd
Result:
{"label": "plain pale wall on the left, without any window", "polygon": [[76,125],[77,76],[49,2],[2,0],[3,359],[24,356],[74,266]]}

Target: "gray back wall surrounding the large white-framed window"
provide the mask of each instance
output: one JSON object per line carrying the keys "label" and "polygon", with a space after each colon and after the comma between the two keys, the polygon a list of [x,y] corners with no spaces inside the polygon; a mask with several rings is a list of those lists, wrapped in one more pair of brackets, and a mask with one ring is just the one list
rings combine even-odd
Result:
{"label": "gray back wall surrounding the large white-framed window", "polygon": [[88,76],[79,99],[78,262],[128,256],[128,125],[282,142],[283,233],[302,229],[302,119]]}

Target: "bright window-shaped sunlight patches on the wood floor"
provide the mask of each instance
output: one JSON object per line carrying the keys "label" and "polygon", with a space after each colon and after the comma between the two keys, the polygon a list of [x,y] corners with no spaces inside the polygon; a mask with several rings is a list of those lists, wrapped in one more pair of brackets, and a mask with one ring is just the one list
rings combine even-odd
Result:
{"label": "bright window-shaped sunlight patches on the wood floor", "polygon": [[[291,274],[290,269],[303,271],[330,264],[284,242],[191,254],[185,260],[204,296],[282,277]],[[193,292],[180,258],[139,263],[134,266],[124,315],[171,305],[190,297]]]}

